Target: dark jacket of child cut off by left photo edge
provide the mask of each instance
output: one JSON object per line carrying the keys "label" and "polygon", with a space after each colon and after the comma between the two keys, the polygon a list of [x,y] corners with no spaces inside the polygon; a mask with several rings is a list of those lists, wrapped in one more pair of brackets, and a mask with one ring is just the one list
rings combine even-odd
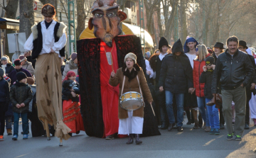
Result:
{"label": "dark jacket of child cut off by left photo edge", "polygon": [[1,111],[7,111],[8,105],[9,105],[9,91],[10,86],[8,81],[6,81],[4,78],[0,80],[0,110]]}

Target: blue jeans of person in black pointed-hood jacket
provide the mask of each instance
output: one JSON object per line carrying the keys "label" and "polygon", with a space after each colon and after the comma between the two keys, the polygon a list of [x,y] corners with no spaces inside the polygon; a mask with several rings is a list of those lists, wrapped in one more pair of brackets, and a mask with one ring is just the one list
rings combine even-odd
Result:
{"label": "blue jeans of person in black pointed-hood jacket", "polygon": [[176,98],[177,104],[177,126],[183,125],[183,104],[184,94],[173,94],[171,91],[165,91],[166,93],[166,111],[169,118],[169,123],[175,123],[174,109],[173,109],[173,98]]}

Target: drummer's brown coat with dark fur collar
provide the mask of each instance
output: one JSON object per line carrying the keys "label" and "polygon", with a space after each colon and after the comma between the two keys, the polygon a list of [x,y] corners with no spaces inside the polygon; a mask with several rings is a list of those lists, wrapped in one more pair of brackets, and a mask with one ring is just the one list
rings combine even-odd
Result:
{"label": "drummer's brown coat with dark fur collar", "polygon": [[[151,96],[149,86],[146,83],[146,78],[144,76],[143,70],[141,67],[139,67],[137,64],[134,65],[134,69],[132,69],[131,72],[127,69],[125,71],[126,67],[122,67],[117,69],[117,74],[114,75],[114,77],[110,76],[110,85],[111,86],[117,86],[119,84],[119,96],[121,96],[122,93],[122,83],[125,75],[125,81],[124,81],[124,90],[123,94],[128,92],[128,91],[137,91],[139,94],[141,93],[139,91],[139,84],[142,89],[142,94],[145,97],[144,101],[152,102],[153,98]],[[137,75],[139,77],[139,83],[137,80]],[[138,116],[138,117],[144,117],[144,107],[139,108],[136,111],[133,111],[133,116]],[[128,118],[128,112],[127,110],[124,110],[121,108],[121,106],[118,106],[118,118],[119,119],[124,119]]]}

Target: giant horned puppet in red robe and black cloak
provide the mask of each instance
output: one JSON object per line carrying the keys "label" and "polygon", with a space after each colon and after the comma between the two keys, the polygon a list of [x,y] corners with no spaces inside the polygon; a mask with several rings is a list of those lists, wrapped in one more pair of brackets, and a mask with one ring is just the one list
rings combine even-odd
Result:
{"label": "giant horned puppet in red robe and black cloak", "polygon": [[[97,0],[92,6],[89,28],[97,38],[78,40],[81,113],[89,136],[112,139],[118,132],[119,88],[109,84],[112,71],[117,72],[129,52],[137,55],[137,63],[145,70],[140,38],[119,35],[120,21],[127,18],[114,0]],[[119,35],[119,36],[118,36]],[[107,55],[111,56],[108,62]],[[144,108],[142,136],[160,135],[149,103]]]}

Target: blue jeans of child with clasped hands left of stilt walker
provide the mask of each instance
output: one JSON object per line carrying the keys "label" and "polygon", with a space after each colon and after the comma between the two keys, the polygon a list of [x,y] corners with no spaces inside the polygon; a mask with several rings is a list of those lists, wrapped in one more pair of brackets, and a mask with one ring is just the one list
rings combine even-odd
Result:
{"label": "blue jeans of child with clasped hands left of stilt walker", "polygon": [[18,135],[18,120],[20,115],[23,134],[28,135],[28,113],[14,113],[14,135]]}

